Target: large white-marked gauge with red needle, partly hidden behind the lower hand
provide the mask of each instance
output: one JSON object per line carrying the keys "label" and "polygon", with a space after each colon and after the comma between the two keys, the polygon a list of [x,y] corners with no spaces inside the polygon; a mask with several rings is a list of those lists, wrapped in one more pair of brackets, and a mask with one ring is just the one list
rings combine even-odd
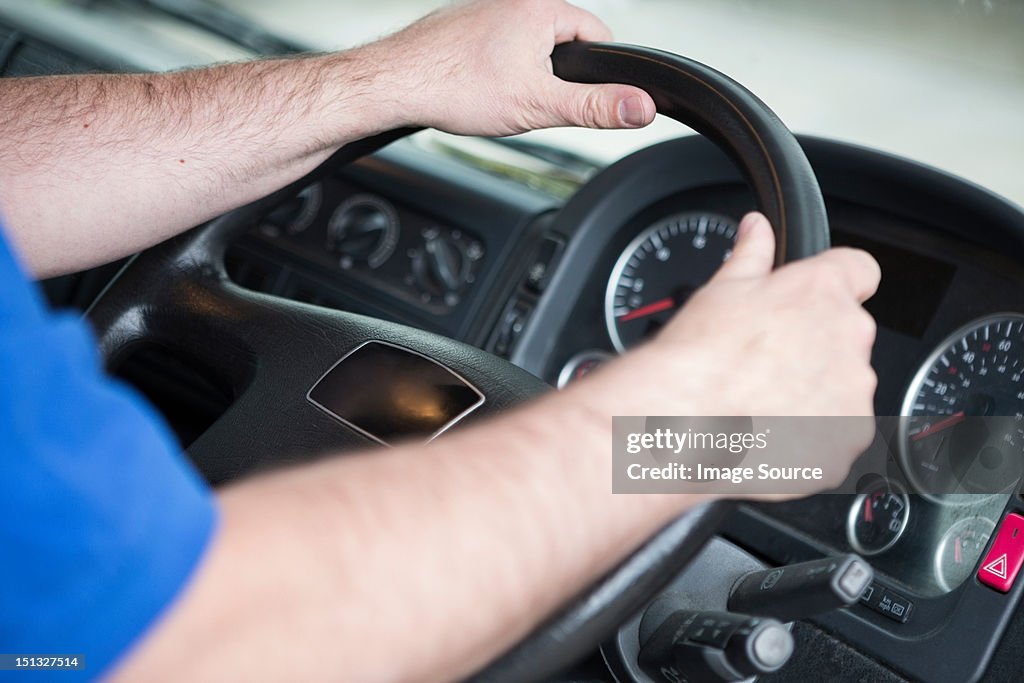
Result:
{"label": "large white-marked gauge with red needle, partly hidden behind the lower hand", "polygon": [[669,216],[623,251],[604,296],[604,317],[620,352],[659,330],[729,258],[736,222],[709,213]]}

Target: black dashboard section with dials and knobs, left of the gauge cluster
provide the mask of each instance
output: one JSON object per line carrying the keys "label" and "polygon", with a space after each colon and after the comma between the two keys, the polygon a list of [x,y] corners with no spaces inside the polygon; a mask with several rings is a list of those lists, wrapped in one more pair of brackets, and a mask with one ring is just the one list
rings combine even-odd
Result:
{"label": "black dashboard section with dials and knobs, left of the gauge cluster", "polygon": [[[478,346],[487,345],[558,206],[547,195],[439,159],[411,140],[318,184],[309,225],[288,230],[269,216],[254,224],[227,254],[232,278],[259,291],[415,325]],[[379,263],[359,251],[357,239],[354,247],[339,244],[338,217],[360,203],[386,215],[390,225],[381,231],[394,233]]]}

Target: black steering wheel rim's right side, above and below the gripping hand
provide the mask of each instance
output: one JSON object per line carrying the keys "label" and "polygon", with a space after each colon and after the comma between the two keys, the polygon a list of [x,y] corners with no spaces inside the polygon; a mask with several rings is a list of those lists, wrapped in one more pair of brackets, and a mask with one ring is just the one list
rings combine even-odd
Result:
{"label": "black steering wheel rim's right side, above and below the gripping hand", "polygon": [[[555,48],[552,66],[567,81],[640,87],[658,114],[721,147],[775,228],[776,263],[829,247],[824,200],[807,157],[778,117],[743,86],[692,59],[633,45],[566,43]],[[587,656],[671,582],[733,509],[733,503],[717,501],[676,519],[470,680],[544,680]]]}

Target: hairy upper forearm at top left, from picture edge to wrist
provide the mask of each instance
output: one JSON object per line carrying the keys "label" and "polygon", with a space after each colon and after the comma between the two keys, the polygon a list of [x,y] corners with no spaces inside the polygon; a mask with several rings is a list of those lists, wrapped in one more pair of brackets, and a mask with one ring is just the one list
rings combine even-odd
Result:
{"label": "hairy upper forearm at top left, from picture edge to wrist", "polygon": [[127,255],[397,124],[371,48],[0,80],[0,215],[40,276]]}

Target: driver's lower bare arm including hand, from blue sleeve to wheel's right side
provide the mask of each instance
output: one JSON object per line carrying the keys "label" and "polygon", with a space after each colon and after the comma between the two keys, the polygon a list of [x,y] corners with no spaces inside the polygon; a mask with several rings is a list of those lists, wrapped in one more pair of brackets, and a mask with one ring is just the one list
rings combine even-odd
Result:
{"label": "driver's lower bare arm including hand, from blue sleeve to wheel's right side", "polygon": [[[831,250],[773,272],[764,217],[738,234],[657,337],[566,391],[224,490],[191,586],[120,678],[460,678],[702,500],[612,495],[611,416],[870,415],[877,264]],[[836,434],[836,473],[872,436]]]}

